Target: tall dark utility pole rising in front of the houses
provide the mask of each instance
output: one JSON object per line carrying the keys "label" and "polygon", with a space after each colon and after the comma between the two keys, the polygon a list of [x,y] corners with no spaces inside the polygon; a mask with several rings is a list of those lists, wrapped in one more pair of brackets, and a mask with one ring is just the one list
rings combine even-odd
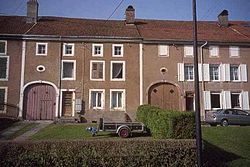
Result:
{"label": "tall dark utility pole rising in front of the houses", "polygon": [[202,143],[201,143],[201,121],[200,121],[200,93],[197,53],[197,18],[196,0],[193,0],[193,47],[194,47],[194,89],[195,89],[195,128],[197,146],[197,165],[202,166]]}

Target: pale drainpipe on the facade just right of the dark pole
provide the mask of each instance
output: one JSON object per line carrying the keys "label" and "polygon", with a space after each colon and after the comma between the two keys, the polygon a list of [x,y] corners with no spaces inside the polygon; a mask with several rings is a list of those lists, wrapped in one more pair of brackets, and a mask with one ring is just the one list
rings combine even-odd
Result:
{"label": "pale drainpipe on the facade just right of the dark pole", "polygon": [[[203,47],[205,47],[207,45],[207,41],[201,45],[200,47],[200,52],[201,52],[201,90],[202,90],[202,97],[201,99],[204,99],[204,91],[205,91],[205,84],[204,84],[204,70],[203,70]],[[204,108],[204,102],[201,103],[201,119],[204,121],[205,120],[205,108]]]}

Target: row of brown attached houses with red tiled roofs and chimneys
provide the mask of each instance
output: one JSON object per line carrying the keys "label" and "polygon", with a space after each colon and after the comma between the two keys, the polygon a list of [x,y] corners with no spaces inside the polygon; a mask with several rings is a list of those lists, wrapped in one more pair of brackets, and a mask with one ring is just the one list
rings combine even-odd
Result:
{"label": "row of brown attached houses with red tiled roofs and chimneys", "polygon": [[[192,22],[0,16],[0,113],[27,120],[134,120],[151,104],[194,110]],[[208,110],[249,110],[250,22],[198,22],[201,117]]]}

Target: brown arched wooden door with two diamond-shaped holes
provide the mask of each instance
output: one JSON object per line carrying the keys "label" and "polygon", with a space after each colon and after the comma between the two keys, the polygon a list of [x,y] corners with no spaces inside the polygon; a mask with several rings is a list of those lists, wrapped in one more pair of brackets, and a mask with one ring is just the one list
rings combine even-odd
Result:
{"label": "brown arched wooden door with two diamond-shaped holes", "polygon": [[148,103],[162,109],[179,110],[178,88],[170,83],[157,83],[149,88]]}

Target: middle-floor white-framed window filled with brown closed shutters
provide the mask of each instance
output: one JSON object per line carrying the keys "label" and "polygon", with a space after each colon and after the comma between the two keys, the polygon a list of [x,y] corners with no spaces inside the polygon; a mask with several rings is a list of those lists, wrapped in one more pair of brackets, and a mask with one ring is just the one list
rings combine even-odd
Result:
{"label": "middle-floor white-framed window filled with brown closed shutters", "polygon": [[90,61],[90,80],[105,80],[105,63],[104,61]]}

